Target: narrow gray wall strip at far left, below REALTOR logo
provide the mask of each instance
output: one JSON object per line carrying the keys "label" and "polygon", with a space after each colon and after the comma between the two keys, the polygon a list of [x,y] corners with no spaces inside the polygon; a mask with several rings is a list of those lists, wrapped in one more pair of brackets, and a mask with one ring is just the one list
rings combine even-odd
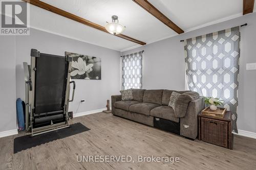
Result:
{"label": "narrow gray wall strip at far left, below REALTOR logo", "polygon": [[15,36],[0,38],[0,132],[16,129]]}

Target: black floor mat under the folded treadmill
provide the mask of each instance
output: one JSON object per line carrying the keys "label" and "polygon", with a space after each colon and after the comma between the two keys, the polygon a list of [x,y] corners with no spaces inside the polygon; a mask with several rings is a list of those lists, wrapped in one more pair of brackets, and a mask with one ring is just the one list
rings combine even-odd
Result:
{"label": "black floor mat under the folded treadmill", "polygon": [[30,135],[16,137],[14,139],[14,154],[22,150],[26,150],[37,145],[48,143],[56,139],[62,139],[68,136],[72,136],[78,133],[82,133],[90,130],[81,123],[70,125],[69,128],[59,129],[45,134],[31,137]]}

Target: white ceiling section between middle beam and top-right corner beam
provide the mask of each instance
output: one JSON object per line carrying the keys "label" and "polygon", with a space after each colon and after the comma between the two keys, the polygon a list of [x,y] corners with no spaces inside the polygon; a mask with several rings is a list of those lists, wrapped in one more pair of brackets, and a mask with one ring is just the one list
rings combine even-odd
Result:
{"label": "white ceiling section between middle beam and top-right corner beam", "polygon": [[[185,32],[208,22],[242,15],[242,0],[149,0]],[[256,2],[255,2],[256,3]]]}

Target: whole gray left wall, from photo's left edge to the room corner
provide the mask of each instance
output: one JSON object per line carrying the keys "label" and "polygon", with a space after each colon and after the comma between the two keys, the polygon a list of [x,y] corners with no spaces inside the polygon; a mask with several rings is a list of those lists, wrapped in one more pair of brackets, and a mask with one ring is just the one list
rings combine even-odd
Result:
{"label": "whole gray left wall, from photo's left edge to the room corner", "polygon": [[25,99],[23,62],[30,63],[30,49],[42,53],[65,55],[65,51],[101,58],[101,80],[75,80],[75,98],[70,105],[74,113],[102,109],[112,94],[120,88],[120,52],[97,45],[72,40],[31,29],[30,36],[1,36],[0,38],[0,132],[16,129],[17,98]]}

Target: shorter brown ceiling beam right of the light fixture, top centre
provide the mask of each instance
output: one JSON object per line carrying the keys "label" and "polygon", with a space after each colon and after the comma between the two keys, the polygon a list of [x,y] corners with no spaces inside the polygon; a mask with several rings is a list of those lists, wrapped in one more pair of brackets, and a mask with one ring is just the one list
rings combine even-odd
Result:
{"label": "shorter brown ceiling beam right of the light fixture, top centre", "polygon": [[146,0],[133,0],[136,4],[146,10],[148,13],[155,16],[161,22],[163,22],[167,27],[174,30],[178,34],[184,33],[184,31],[179,28],[172,20],[162,14],[156,7],[154,7],[150,2]]}

